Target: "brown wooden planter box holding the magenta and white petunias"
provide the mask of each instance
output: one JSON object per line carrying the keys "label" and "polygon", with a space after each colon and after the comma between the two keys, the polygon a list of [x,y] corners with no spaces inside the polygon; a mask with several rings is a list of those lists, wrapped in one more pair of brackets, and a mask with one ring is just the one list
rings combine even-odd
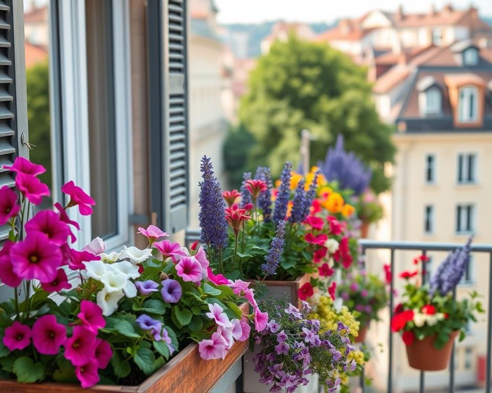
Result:
{"label": "brown wooden planter box holding the magenta and white petunias", "polygon": [[[240,306],[248,312],[249,304]],[[229,368],[248,350],[249,340],[236,341],[226,359],[203,360],[198,344],[192,343],[138,386],[96,385],[83,389],[78,385],[56,382],[20,384],[0,380],[0,391],[8,393],[205,393],[214,387]]]}

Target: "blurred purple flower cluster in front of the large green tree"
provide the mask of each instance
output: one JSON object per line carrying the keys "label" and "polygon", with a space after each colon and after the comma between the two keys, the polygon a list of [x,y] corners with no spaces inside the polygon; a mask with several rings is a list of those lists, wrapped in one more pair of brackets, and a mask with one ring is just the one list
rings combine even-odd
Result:
{"label": "blurred purple flower cluster in front of the large green tree", "polygon": [[319,162],[318,166],[326,180],[336,180],[341,189],[350,188],[356,195],[361,195],[371,181],[371,169],[366,169],[353,151],[343,149],[341,134],[337,137],[335,148],[328,150],[324,162]]}

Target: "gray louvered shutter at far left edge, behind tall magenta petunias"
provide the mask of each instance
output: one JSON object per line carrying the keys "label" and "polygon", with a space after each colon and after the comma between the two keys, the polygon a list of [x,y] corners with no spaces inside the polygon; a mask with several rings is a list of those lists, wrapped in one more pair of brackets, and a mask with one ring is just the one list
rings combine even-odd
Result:
{"label": "gray louvered shutter at far left edge, behind tall magenta petunias", "polygon": [[[28,157],[24,10],[18,0],[0,0],[0,166],[17,155]],[[14,185],[9,171],[0,167],[0,187]],[[0,241],[9,227],[0,227]]]}

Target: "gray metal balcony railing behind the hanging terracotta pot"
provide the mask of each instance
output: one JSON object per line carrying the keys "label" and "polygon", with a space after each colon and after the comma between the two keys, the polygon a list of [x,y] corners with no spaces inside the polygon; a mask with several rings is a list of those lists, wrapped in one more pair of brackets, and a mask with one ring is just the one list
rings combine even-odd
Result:
{"label": "gray metal balcony railing behind the hanging terracotta pot", "polygon": [[[414,250],[420,251],[425,255],[428,251],[454,251],[456,248],[462,246],[460,244],[450,243],[414,243],[414,242],[377,242],[367,239],[361,239],[359,241],[361,246],[362,255],[365,255],[366,250],[389,250],[391,253],[391,284],[390,284],[390,300],[389,300],[389,320],[393,317],[394,310],[394,274],[395,274],[395,251],[397,250]],[[471,245],[471,252],[473,253],[486,253],[489,256],[489,277],[488,277],[488,307],[486,311],[487,318],[487,358],[486,358],[486,370],[485,370],[485,392],[491,392],[491,371],[492,371],[492,245]],[[425,262],[422,267],[422,282],[427,279],[427,272],[425,271]],[[456,293],[453,293],[456,296]],[[387,393],[393,391],[393,332],[391,331],[391,324],[388,326],[388,376],[387,376]],[[362,393],[365,392],[364,376],[360,379],[360,387]],[[449,362],[449,392],[455,391],[455,348],[453,346],[453,352]],[[425,392],[425,373],[420,372],[419,392]]]}

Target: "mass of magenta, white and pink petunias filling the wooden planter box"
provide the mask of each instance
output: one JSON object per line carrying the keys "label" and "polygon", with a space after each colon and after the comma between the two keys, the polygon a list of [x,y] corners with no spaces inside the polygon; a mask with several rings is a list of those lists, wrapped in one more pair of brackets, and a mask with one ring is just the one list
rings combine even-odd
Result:
{"label": "mass of magenta, white and pink petunias filling the wooden planter box", "polygon": [[[16,192],[0,189],[0,225],[11,227],[0,250],[0,279],[14,294],[0,304],[2,378],[138,384],[191,341],[203,359],[223,358],[235,340],[248,339],[250,321],[264,328],[267,315],[248,283],[217,282],[202,248],[189,252],[157,241],[168,235],[151,225],[139,228],[149,240],[145,250],[107,253],[95,238],[77,251],[71,244],[80,227],[67,210],[90,215],[94,200],[68,182],[61,188],[69,197],[65,207],[56,203],[57,212],[29,219],[32,205],[49,194],[36,177],[44,168],[20,157],[4,168],[16,172],[20,205]],[[243,301],[253,314],[242,314]]]}

